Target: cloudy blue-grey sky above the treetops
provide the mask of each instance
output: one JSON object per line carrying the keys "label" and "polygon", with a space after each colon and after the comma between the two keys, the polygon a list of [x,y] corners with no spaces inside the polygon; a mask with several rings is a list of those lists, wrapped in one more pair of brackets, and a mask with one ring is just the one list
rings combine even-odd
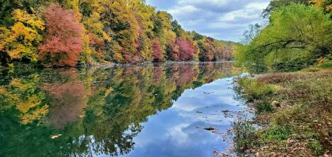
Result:
{"label": "cloudy blue-grey sky above the treetops", "polygon": [[249,24],[263,21],[270,0],[147,0],[171,13],[185,30],[226,41],[241,41]]}

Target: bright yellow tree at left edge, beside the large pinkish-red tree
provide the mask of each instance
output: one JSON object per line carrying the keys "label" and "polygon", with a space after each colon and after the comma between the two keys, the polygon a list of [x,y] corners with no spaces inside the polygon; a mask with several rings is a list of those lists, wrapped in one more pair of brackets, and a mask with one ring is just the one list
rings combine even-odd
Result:
{"label": "bright yellow tree at left edge, beside the large pinkish-red tree", "polygon": [[0,50],[10,59],[37,62],[37,46],[43,39],[40,33],[44,30],[44,21],[19,9],[12,12],[12,19],[15,24],[10,29],[0,27]]}

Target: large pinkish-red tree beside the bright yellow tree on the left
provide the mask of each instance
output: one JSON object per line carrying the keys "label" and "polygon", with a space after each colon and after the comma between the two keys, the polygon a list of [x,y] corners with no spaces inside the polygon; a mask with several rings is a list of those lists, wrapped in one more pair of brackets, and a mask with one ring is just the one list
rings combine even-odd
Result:
{"label": "large pinkish-red tree beside the bright yellow tree on the left", "polygon": [[40,57],[50,56],[52,66],[75,66],[82,52],[84,28],[75,13],[52,3],[44,10],[46,42],[39,46]]}

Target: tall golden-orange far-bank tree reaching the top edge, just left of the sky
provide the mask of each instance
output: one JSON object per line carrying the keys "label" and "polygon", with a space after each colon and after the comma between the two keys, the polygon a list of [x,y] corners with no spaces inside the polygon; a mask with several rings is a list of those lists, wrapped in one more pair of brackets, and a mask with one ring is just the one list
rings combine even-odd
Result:
{"label": "tall golden-orange far-bank tree reaching the top edge, just left of the sky", "polygon": [[113,41],[108,45],[113,62],[136,62],[138,21],[124,1],[113,0],[101,3],[101,20],[106,33],[113,34]]}

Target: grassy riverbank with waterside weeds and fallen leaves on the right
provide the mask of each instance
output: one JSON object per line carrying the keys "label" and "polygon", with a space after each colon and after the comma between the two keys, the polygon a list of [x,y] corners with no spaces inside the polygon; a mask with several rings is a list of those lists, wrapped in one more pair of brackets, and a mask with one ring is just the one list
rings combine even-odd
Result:
{"label": "grassy riverbank with waterside weeds and fallen leaves on the right", "polygon": [[234,122],[240,156],[332,155],[331,67],[253,75],[234,82],[240,97],[256,110],[253,120]]}

